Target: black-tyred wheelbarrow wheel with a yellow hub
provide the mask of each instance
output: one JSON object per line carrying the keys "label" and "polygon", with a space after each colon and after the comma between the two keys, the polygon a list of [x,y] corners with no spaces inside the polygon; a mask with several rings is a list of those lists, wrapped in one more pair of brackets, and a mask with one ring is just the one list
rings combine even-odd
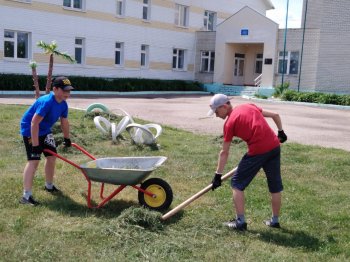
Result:
{"label": "black-tyred wheelbarrow wheel with a yellow hub", "polygon": [[140,205],[152,210],[167,209],[173,201],[173,191],[170,185],[160,178],[150,178],[141,184],[141,188],[146,192],[152,193],[149,196],[141,191],[138,193]]}

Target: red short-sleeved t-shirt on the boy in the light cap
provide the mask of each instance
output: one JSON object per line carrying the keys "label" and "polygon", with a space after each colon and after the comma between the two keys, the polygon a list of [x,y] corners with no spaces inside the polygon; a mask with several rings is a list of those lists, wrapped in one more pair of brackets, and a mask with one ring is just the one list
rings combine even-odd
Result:
{"label": "red short-sleeved t-shirt on the boy in the light cap", "polygon": [[228,115],[224,125],[224,141],[239,137],[248,145],[248,155],[264,154],[280,145],[271,129],[262,108],[254,104],[236,106]]}

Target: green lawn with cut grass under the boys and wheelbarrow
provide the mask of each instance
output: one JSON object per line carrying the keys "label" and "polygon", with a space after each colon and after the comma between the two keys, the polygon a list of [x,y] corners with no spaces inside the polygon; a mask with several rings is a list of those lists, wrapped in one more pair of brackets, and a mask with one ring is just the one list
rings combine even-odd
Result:
{"label": "green lawn with cut grass under the boys and wheelbarrow", "polygon": [[[349,261],[350,152],[286,143],[282,146],[284,182],[282,229],[270,217],[263,173],[246,190],[248,231],[222,226],[233,217],[229,182],[208,192],[166,222],[161,213],[141,208],[137,191],[126,189],[100,209],[88,209],[82,173],[57,160],[52,196],[43,190],[43,164],[33,188],[39,207],[18,203],[26,157],[19,135],[24,106],[0,105],[0,254],[2,261]],[[174,192],[171,208],[209,184],[221,138],[163,127],[159,148],[136,146],[127,133],[117,142],[99,133],[92,117],[70,112],[72,140],[97,158],[167,156],[150,177],[166,180]],[[142,122],[137,120],[137,122]],[[58,132],[59,128],[55,128]],[[57,133],[56,140],[62,141]],[[232,169],[245,152],[235,141]],[[59,153],[77,163],[88,159],[74,149]],[[100,184],[94,183],[94,199]],[[113,187],[108,185],[106,190]]]}

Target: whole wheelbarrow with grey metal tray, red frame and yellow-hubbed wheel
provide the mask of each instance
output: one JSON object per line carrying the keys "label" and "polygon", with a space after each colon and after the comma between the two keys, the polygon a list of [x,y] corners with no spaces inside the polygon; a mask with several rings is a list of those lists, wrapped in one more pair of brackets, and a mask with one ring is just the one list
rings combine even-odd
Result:
{"label": "whole wheelbarrow with grey metal tray, red frame and yellow-hubbed wheel", "polygon": [[[139,203],[144,207],[160,211],[167,209],[171,205],[173,192],[166,181],[160,178],[145,180],[152,171],[164,163],[167,159],[166,157],[107,157],[96,159],[79,145],[72,143],[72,146],[87,155],[92,161],[78,165],[49,149],[44,151],[81,170],[88,182],[87,205],[89,208],[104,206],[127,186],[138,190]],[[91,182],[101,183],[101,202],[96,206],[91,204]],[[109,196],[104,197],[105,184],[113,184],[118,187]]]}

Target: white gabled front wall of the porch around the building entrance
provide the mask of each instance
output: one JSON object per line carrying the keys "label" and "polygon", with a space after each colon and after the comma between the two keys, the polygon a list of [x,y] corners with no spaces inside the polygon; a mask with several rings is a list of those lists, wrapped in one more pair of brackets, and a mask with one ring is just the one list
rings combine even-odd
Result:
{"label": "white gabled front wall of the porch around the building entrance", "polygon": [[[241,36],[241,29],[248,29],[249,35]],[[276,23],[248,7],[220,24],[216,35],[214,82],[232,82],[233,52],[239,52],[237,48],[244,48],[244,45],[249,46],[249,44],[263,44],[264,58],[272,58],[273,63],[272,65],[263,65],[261,85],[271,87],[273,85],[274,64],[276,63],[274,57],[277,32],[278,25]]]}

